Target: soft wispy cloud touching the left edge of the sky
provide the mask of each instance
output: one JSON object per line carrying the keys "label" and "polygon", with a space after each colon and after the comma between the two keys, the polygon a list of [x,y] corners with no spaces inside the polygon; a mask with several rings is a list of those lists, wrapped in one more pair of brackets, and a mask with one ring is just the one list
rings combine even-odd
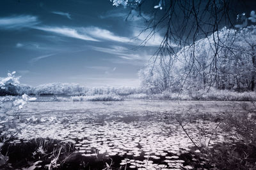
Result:
{"label": "soft wispy cloud touching the left edge of the sky", "polygon": [[38,23],[38,18],[32,15],[0,17],[0,29],[21,29]]}

